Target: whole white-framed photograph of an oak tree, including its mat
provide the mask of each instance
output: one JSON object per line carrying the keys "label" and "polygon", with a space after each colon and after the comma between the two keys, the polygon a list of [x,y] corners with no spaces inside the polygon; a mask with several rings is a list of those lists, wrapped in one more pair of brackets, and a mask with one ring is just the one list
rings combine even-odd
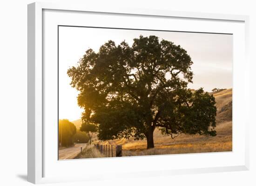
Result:
{"label": "whole white-framed photograph of an oak tree, including its mat", "polygon": [[248,28],[242,15],[29,4],[28,181],[248,170]]}

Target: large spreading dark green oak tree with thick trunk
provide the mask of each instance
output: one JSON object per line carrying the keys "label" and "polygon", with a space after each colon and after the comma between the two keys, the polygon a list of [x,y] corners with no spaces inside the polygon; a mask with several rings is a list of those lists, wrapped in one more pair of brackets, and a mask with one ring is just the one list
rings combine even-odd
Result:
{"label": "large spreading dark green oak tree with thick trunk", "polygon": [[154,148],[155,128],[177,135],[216,135],[215,98],[202,89],[191,91],[191,58],[180,45],[156,36],[86,51],[67,71],[80,93],[83,118],[97,123],[100,140],[134,137]]}

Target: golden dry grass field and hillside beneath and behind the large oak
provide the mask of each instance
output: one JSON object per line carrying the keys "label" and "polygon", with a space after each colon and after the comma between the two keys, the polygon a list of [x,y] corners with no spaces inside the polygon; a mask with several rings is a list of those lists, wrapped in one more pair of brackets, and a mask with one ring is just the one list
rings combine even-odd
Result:
{"label": "golden dry grass field and hillside beneath and behind the large oak", "polygon": [[[154,142],[155,148],[147,149],[147,141],[135,141],[131,139],[120,139],[100,142],[101,144],[122,145],[123,156],[138,155],[159,155],[159,154],[187,154],[205,152],[226,152],[232,151],[232,89],[222,90],[211,93],[216,98],[217,116],[216,132],[217,135],[179,135],[174,140],[168,135],[162,135],[161,131],[155,129]],[[81,121],[77,120],[74,124],[79,127]],[[97,143],[94,135],[94,143]],[[81,156],[85,158],[85,156]]]}

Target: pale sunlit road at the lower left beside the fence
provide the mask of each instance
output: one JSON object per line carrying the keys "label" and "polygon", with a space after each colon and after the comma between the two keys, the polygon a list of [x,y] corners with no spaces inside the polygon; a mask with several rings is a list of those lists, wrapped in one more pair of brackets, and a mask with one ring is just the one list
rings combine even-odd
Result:
{"label": "pale sunlit road at the lower left beside the fence", "polygon": [[59,150],[59,160],[74,159],[84,149],[87,143],[77,143],[73,147]]}

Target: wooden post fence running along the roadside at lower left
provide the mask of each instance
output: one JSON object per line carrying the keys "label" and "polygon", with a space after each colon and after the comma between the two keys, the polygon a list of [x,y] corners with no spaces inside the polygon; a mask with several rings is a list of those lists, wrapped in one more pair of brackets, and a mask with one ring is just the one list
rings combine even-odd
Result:
{"label": "wooden post fence running along the roadside at lower left", "polygon": [[[94,148],[98,149],[104,157],[121,157],[122,156],[122,146],[117,145],[100,145],[94,144]],[[114,152],[114,153],[113,153]]]}

